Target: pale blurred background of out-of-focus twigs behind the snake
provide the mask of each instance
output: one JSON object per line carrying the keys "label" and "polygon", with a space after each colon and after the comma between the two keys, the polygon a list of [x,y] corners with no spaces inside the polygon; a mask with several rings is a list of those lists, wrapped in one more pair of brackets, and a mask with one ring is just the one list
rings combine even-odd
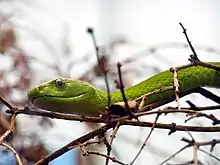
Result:
{"label": "pale blurred background of out-of-focus twigs behind the snake", "polygon": [[[111,90],[116,90],[117,62],[123,67],[126,87],[134,85],[162,70],[188,63],[191,54],[182,22],[199,58],[220,61],[219,0],[2,0],[0,1],[0,93],[11,104],[24,107],[27,91],[36,84],[57,76],[88,81],[105,90],[88,27],[95,30],[100,46],[101,63],[109,70]],[[216,89],[210,89],[219,94]],[[181,99],[196,105],[214,105],[197,94]],[[171,103],[171,105],[176,105]],[[0,134],[9,128],[6,107],[0,104]],[[219,112],[212,112],[219,116]],[[158,122],[185,124],[186,116],[169,114]],[[142,117],[154,121],[155,116]],[[190,125],[211,125],[209,120],[195,119]],[[18,115],[16,132],[8,142],[18,151],[24,164],[32,164],[72,140],[97,128],[98,125]],[[150,128],[122,126],[113,143],[112,156],[130,163]],[[186,132],[168,136],[169,130],[156,129],[135,164],[156,165],[185,143]],[[111,131],[110,131],[111,133]],[[109,134],[110,134],[109,133]],[[196,140],[219,138],[219,133],[192,133]],[[91,150],[106,153],[103,144]],[[209,147],[205,148],[209,151]],[[220,149],[214,154],[219,156]],[[10,151],[1,148],[0,164],[14,165]],[[204,164],[219,164],[199,152]],[[173,158],[170,163],[193,159],[193,148]],[[55,159],[50,165],[104,164],[99,156],[83,157],[75,149]],[[115,164],[110,162],[110,164]]]}

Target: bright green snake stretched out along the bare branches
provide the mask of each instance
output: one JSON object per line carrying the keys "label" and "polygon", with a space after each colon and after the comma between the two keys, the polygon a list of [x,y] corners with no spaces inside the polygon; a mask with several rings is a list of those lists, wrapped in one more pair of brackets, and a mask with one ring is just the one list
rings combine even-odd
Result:
{"label": "bright green snake stretched out along the bare branches", "polygon": [[[210,62],[220,66],[220,62]],[[132,79],[132,77],[131,77]],[[202,67],[191,66],[178,71],[180,93],[196,87],[220,87],[220,72]],[[125,89],[127,100],[135,100],[144,94],[173,85],[173,73],[160,72],[141,83]],[[174,90],[153,94],[147,97],[145,105],[174,95]],[[120,91],[111,92],[111,104],[123,102]],[[28,99],[38,108],[95,116],[106,111],[107,93],[79,80],[56,78],[34,87]]]}

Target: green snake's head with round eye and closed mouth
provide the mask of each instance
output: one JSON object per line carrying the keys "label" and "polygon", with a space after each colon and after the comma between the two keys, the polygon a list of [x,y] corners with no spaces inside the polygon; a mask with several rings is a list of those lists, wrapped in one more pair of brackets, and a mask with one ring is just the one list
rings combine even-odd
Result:
{"label": "green snake's head with round eye and closed mouth", "polygon": [[95,88],[86,82],[56,78],[31,89],[28,99],[41,109],[72,113],[85,108],[94,93]]}

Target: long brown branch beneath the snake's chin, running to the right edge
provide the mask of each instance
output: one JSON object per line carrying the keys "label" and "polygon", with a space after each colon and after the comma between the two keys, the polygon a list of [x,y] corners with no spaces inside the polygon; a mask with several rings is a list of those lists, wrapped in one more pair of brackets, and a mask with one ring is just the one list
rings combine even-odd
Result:
{"label": "long brown branch beneath the snake's chin, running to the right edge", "polygon": [[[38,115],[38,116],[47,116],[51,118],[58,118],[58,119],[66,119],[66,120],[75,120],[75,121],[87,121],[87,122],[94,122],[94,123],[106,123],[102,118],[99,117],[82,117],[82,116],[77,116],[77,115],[67,115],[67,114],[61,114],[61,113],[54,113],[54,112],[47,112],[47,111],[15,111],[16,114],[30,114],[30,115]],[[140,113],[135,113],[135,116],[143,116],[143,115],[150,115],[150,114],[157,114],[158,111],[155,112],[140,112]],[[193,110],[162,110],[160,113],[197,113],[196,111]],[[120,125],[133,125],[133,126],[140,126],[140,127],[152,127],[153,123],[152,122],[137,122],[137,121],[131,121],[131,120],[126,120],[128,119],[129,116],[125,117],[119,117],[116,119],[112,119],[110,122],[115,123],[118,121],[121,121]],[[109,122],[109,121],[108,121]],[[220,127],[201,127],[201,126],[183,126],[183,125],[175,125],[173,124],[166,124],[166,123],[157,123],[155,125],[155,128],[159,129],[173,129],[175,128],[177,131],[196,131],[196,132],[218,132],[220,131]]]}

